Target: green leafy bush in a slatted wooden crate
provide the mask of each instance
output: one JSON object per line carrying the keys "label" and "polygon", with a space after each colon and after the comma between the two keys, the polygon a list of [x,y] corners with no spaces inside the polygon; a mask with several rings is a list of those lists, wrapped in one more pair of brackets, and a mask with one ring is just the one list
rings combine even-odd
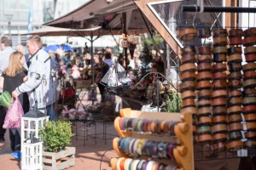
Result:
{"label": "green leafy bush in a slatted wooden crate", "polygon": [[43,163],[46,169],[74,166],[75,148],[67,147],[73,137],[71,122],[45,122],[39,133],[42,135],[44,145]]}

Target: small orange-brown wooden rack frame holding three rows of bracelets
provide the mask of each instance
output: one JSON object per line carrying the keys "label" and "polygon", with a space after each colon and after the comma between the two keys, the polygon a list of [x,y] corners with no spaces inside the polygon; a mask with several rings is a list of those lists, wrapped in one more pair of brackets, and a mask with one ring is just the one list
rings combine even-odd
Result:
{"label": "small orange-brown wooden rack frame holding three rows of bracelets", "polygon": [[[166,113],[166,112],[144,112],[144,111],[132,111],[130,108],[120,110],[120,116],[142,118],[151,120],[163,120],[163,121],[175,121],[180,122],[174,127],[176,137],[166,135],[156,135],[147,133],[137,133],[130,130],[122,131],[119,127],[120,117],[116,117],[114,121],[114,127],[119,133],[120,138],[132,137],[136,139],[150,139],[154,141],[166,141],[171,143],[179,143],[180,145],[173,150],[173,156],[180,167],[179,170],[194,170],[194,151],[193,151],[193,134],[192,134],[192,115],[191,114],[180,114],[180,113]],[[118,147],[119,138],[113,139],[113,149],[116,150],[119,157],[129,157],[125,155],[122,150]],[[143,159],[149,157],[143,156]],[[116,158],[111,160],[111,166],[115,169]],[[169,159],[154,159],[166,164],[171,164],[173,161]]]}

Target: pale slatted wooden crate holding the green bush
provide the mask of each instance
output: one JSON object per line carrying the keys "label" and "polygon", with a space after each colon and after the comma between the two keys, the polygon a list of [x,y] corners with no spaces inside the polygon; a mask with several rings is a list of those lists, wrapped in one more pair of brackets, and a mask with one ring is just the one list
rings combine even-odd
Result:
{"label": "pale slatted wooden crate holding the green bush", "polygon": [[[43,151],[44,170],[61,170],[75,165],[75,147],[66,147],[60,152]],[[57,162],[60,160],[60,162]]]}

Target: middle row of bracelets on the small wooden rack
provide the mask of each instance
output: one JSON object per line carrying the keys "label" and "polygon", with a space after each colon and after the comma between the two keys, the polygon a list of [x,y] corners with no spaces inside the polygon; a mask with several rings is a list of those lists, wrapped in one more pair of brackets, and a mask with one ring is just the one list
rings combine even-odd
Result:
{"label": "middle row of bracelets on the small wooden rack", "polygon": [[156,142],[148,139],[119,138],[119,150],[127,156],[149,156],[157,159],[174,159],[173,150],[177,144]]}

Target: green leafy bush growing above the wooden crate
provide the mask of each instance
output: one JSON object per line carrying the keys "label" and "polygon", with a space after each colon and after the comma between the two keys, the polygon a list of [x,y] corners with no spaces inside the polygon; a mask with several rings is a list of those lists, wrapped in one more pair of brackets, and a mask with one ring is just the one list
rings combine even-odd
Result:
{"label": "green leafy bush growing above the wooden crate", "polygon": [[39,129],[43,135],[44,151],[58,152],[65,150],[65,147],[71,144],[72,123],[64,121],[45,122],[44,126]]}

